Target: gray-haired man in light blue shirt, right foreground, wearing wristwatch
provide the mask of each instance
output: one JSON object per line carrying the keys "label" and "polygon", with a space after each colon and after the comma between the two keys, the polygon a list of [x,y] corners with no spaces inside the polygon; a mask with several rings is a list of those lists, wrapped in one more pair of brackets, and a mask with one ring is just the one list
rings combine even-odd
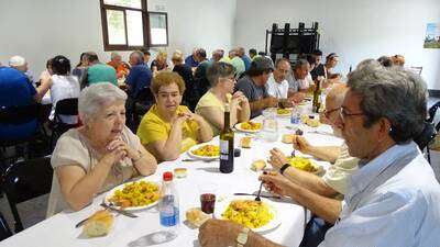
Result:
{"label": "gray-haired man in light blue shirt, right foreground, wearing wristwatch", "polygon": [[[349,91],[339,122],[349,154],[360,158],[360,169],[350,178],[343,203],[317,198],[334,223],[320,247],[438,246],[440,243],[440,184],[417,144],[427,114],[427,88],[422,79],[402,68],[386,68],[378,61],[364,64],[349,75]],[[301,190],[279,173],[260,178],[274,193],[301,203]],[[211,222],[211,223],[210,223]],[[208,221],[205,233],[226,227]],[[232,226],[228,226],[229,229]],[[235,232],[237,231],[237,232]],[[229,243],[229,237],[217,242]],[[201,236],[200,236],[201,235]],[[251,233],[249,246],[278,246]],[[251,245],[252,244],[252,245]]]}

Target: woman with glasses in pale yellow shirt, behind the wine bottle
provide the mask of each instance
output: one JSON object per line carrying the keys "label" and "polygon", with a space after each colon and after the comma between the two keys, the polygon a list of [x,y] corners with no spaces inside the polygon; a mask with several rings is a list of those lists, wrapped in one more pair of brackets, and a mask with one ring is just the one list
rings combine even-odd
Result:
{"label": "woman with glasses in pale yellow shirt, behind the wine bottle", "polygon": [[[196,106],[196,113],[204,116],[212,127],[215,135],[223,128],[224,103],[228,101],[227,94],[234,90],[235,78],[234,68],[227,63],[215,63],[208,68],[208,80],[211,89],[200,98]],[[231,100],[231,126],[238,122],[249,121],[251,110],[248,98],[237,91]]]}

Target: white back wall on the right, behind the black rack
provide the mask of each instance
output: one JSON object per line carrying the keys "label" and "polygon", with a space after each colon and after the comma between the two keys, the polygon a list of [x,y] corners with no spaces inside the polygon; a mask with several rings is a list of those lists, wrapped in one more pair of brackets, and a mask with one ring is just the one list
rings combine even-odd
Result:
{"label": "white back wall on the right, behind the black rack", "polygon": [[440,49],[424,49],[426,24],[440,23],[439,0],[238,0],[234,44],[264,50],[272,23],[319,22],[320,48],[340,55],[337,71],[364,58],[402,54],[424,66],[428,88],[440,89]]}

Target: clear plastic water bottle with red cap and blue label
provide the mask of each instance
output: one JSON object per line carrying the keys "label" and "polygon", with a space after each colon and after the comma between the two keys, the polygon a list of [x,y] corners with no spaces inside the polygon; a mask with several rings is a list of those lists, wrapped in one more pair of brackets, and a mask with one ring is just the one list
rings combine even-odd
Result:
{"label": "clear plastic water bottle with red cap and blue label", "polygon": [[170,171],[166,171],[163,175],[158,211],[162,226],[172,227],[179,224],[178,197],[173,183],[173,172]]}

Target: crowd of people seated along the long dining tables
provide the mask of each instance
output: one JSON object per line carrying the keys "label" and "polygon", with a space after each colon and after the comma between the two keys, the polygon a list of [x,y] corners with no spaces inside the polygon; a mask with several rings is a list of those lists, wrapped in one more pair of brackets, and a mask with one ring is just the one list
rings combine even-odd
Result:
{"label": "crowd of people seated along the long dining tables", "polygon": [[[301,246],[436,243],[440,186],[413,142],[425,121],[427,89],[420,77],[403,68],[405,59],[396,55],[364,60],[348,75],[346,83],[340,83],[334,53],[321,64],[322,53],[315,50],[293,66],[286,58],[272,61],[255,49],[249,54],[242,47],[228,56],[216,49],[209,59],[204,48],[196,48],[184,61],[184,54],[175,50],[168,66],[167,53],[160,50],[148,67],[148,50],[132,52],[127,66],[119,54],[103,64],[96,53],[87,52],[73,72],[69,59],[58,55],[47,61],[37,88],[25,74],[24,58],[13,57],[10,67],[0,67],[0,90],[10,90],[1,98],[2,105],[41,101],[51,89],[51,119],[59,100],[78,98],[82,125],[56,143],[47,215],[78,211],[96,194],[154,173],[157,162],[175,160],[194,145],[211,141],[224,127],[226,103],[233,126],[266,108],[294,106],[320,82],[329,88],[320,120],[344,142],[317,146],[295,136],[293,148],[332,166],[321,178],[286,166],[286,155],[275,147],[270,154],[275,171],[260,177],[270,192],[314,213]],[[121,65],[123,70],[118,71]],[[120,75],[125,87],[118,83]],[[125,102],[144,88],[150,88],[154,102],[133,134],[125,126]],[[0,137],[20,135],[29,126],[20,131],[1,126]],[[245,246],[279,246],[245,232]],[[199,242],[235,245],[241,233],[240,225],[209,220],[199,229]]]}

